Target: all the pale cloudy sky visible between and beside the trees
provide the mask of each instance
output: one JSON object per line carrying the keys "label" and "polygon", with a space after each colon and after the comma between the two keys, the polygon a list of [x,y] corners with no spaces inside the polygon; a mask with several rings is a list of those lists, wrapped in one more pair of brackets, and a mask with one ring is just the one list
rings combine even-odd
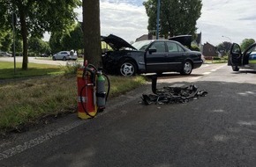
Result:
{"label": "all the pale cloudy sky visible between and beside the trees", "polygon": [[[115,34],[124,40],[135,41],[147,34],[147,0],[100,0],[101,33]],[[255,0],[202,0],[197,33],[202,33],[202,44],[218,45],[223,41],[256,40]],[[82,21],[82,9],[76,9]]]}

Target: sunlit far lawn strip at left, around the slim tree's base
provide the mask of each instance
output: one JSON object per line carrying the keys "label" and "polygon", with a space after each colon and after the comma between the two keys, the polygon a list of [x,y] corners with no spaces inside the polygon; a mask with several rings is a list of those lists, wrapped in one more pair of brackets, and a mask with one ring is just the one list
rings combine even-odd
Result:
{"label": "sunlit far lawn strip at left, around the slim tree's base", "polygon": [[29,63],[27,70],[22,70],[22,63],[16,63],[16,73],[14,74],[13,62],[0,62],[0,79],[20,78],[29,76],[53,76],[64,74],[61,66]]}

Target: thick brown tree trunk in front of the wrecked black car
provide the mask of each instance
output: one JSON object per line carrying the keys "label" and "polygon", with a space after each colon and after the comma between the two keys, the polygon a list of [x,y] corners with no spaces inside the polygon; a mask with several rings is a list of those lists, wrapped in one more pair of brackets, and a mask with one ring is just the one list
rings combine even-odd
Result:
{"label": "thick brown tree trunk in front of the wrecked black car", "polygon": [[83,0],[84,61],[102,65],[100,0]]}

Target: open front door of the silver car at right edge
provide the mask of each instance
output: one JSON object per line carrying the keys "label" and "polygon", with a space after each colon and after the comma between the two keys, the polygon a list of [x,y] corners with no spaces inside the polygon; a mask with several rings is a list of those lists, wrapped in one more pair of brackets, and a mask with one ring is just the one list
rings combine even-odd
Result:
{"label": "open front door of the silver car at right edge", "polygon": [[241,47],[237,43],[233,43],[230,49],[229,64],[232,67],[237,67],[242,65],[242,52]]}

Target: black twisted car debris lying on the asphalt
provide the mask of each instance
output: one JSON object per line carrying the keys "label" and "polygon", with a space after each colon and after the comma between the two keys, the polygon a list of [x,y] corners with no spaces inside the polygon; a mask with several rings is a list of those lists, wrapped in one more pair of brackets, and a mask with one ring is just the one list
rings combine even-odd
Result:
{"label": "black twisted car debris lying on the asphalt", "polygon": [[191,99],[198,99],[207,95],[207,91],[199,91],[194,84],[184,87],[169,86],[156,89],[156,83],[157,76],[152,76],[152,91],[154,94],[142,94],[141,98],[144,105],[186,103]]}

